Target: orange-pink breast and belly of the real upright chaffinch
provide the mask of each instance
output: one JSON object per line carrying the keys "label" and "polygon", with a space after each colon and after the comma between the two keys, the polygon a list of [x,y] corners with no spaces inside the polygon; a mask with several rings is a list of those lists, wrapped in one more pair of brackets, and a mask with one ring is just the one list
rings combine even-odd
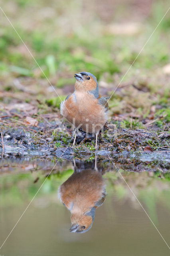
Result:
{"label": "orange-pink breast and belly of the real upright chaffinch", "polygon": [[75,127],[89,133],[101,130],[107,121],[105,109],[89,92],[75,91],[61,104],[61,114]]}

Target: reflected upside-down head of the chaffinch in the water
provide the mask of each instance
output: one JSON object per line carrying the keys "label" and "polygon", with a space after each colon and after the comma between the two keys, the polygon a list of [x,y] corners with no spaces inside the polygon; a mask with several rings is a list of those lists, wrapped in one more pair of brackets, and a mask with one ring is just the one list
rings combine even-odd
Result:
{"label": "reflected upside-down head of the chaffinch in the water", "polygon": [[71,214],[71,228],[70,232],[85,233],[93,224],[95,217],[95,207],[91,208],[86,214]]}

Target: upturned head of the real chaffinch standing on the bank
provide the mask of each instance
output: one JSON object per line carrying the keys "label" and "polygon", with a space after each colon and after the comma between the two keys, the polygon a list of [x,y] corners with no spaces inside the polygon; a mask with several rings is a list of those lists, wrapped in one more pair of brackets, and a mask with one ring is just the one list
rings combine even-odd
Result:
{"label": "upturned head of the real chaffinch standing on the bank", "polygon": [[93,91],[98,90],[96,77],[89,72],[74,74],[76,79],[75,90]]}

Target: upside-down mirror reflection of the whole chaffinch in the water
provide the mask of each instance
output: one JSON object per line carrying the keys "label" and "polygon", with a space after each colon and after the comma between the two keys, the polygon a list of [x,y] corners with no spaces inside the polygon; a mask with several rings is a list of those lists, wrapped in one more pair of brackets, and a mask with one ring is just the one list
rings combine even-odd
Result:
{"label": "upside-down mirror reflection of the whole chaffinch in the water", "polygon": [[58,196],[71,212],[70,232],[85,233],[93,224],[95,210],[105,200],[105,183],[101,172],[91,164],[75,164],[74,173],[59,187]]}

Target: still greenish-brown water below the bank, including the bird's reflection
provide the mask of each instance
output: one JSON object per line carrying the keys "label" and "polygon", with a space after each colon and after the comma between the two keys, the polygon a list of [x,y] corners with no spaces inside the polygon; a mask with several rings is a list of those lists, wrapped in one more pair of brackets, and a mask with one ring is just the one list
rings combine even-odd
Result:
{"label": "still greenish-brown water below the bank, including the bird's reflection", "polygon": [[1,162],[0,246],[43,184],[1,256],[170,255],[169,173],[99,159],[63,160],[53,168],[56,162]]}

